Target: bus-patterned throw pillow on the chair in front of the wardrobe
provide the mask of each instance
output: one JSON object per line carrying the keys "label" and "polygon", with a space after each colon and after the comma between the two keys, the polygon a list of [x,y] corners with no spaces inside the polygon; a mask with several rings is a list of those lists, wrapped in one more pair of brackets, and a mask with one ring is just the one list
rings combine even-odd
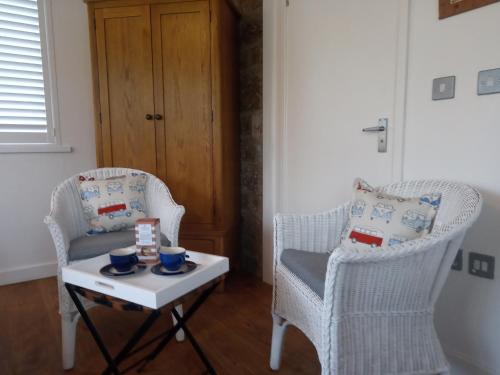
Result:
{"label": "bus-patterned throw pillow on the chair in front of the wardrobe", "polygon": [[95,180],[80,176],[83,213],[90,224],[89,234],[128,229],[146,217],[146,174]]}

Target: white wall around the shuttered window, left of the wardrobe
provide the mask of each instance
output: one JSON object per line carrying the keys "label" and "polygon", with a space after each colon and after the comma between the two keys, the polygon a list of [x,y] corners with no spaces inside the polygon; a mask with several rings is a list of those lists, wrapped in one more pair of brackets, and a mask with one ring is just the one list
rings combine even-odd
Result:
{"label": "white wall around the shuttered window, left of the wardrobe", "polygon": [[45,224],[52,189],[95,167],[87,9],[81,0],[53,0],[59,122],[71,153],[0,154],[0,285],[55,273]]}

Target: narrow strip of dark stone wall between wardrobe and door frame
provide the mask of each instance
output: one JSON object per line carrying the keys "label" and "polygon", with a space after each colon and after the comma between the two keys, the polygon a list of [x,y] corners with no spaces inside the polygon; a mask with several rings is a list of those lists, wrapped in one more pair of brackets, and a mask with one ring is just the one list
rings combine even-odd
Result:
{"label": "narrow strip of dark stone wall between wardrobe and door frame", "polygon": [[234,0],[240,20],[241,267],[262,274],[262,0]]}

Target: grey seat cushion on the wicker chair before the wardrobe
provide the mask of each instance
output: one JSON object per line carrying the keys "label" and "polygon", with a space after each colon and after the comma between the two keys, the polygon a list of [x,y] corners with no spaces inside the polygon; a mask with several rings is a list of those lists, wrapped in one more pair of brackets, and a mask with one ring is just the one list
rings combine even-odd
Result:
{"label": "grey seat cushion on the wicker chair before the wardrobe", "polygon": [[[68,258],[70,261],[88,259],[121,247],[135,244],[135,230],[108,232],[93,236],[75,238],[69,243]],[[170,246],[170,241],[163,233],[161,244]]]}

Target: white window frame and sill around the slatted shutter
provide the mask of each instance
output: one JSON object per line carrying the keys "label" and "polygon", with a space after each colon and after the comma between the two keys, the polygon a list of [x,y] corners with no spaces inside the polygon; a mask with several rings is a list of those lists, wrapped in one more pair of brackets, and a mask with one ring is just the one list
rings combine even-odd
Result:
{"label": "white window frame and sill around the slatted shutter", "polygon": [[42,52],[43,84],[47,118],[47,136],[44,142],[29,142],[28,137],[19,142],[0,142],[0,153],[71,152],[70,146],[61,144],[59,103],[55,70],[52,0],[37,0]]}

